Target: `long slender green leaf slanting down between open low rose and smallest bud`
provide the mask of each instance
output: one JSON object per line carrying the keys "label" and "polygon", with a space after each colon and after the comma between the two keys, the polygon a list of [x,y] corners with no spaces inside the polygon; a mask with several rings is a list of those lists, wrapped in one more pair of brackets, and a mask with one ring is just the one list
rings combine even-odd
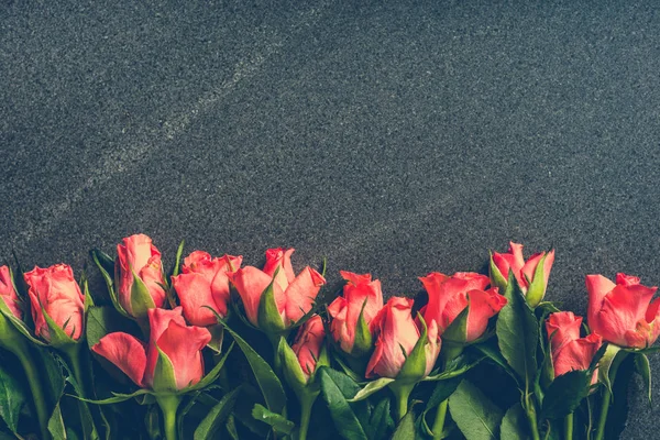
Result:
{"label": "long slender green leaf slanting down between open low rose and smallest bud", "polygon": [[[223,321],[221,321],[221,323],[223,323]],[[279,378],[277,378],[268,363],[264,361],[264,359],[260,356],[252,346],[243,340],[243,338],[227,324],[224,324],[224,329],[232,336],[245,355],[245,359],[248,359],[248,363],[254,373],[254,377],[264,396],[267,408],[273,413],[282,414],[286,406],[286,394],[284,393]]]}

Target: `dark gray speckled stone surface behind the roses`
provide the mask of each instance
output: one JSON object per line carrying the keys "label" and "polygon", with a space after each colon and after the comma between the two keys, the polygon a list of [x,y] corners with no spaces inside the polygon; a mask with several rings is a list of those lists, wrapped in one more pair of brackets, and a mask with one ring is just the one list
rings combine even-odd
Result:
{"label": "dark gray speckled stone surface behind the roses", "polygon": [[660,283],[653,1],[100,3],[0,2],[3,257],[79,273],[142,231],[394,295],[513,239],[576,312],[585,274]]}

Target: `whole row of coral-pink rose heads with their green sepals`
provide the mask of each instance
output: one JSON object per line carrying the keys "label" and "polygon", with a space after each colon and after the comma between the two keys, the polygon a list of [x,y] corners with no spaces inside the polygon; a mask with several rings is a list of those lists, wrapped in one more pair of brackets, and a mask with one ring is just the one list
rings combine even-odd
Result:
{"label": "whole row of coral-pink rose heads with their green sepals", "polygon": [[[490,276],[431,273],[420,278],[428,304],[416,317],[411,299],[395,296],[384,304],[381,283],[370,274],[341,272],[345,280],[342,295],[327,307],[327,319],[322,319],[315,300],[326,283],[324,277],[309,266],[296,275],[290,262],[293,249],[268,250],[261,270],[242,266],[241,256],[213,258],[206,252],[195,251],[184,260],[180,273],[178,264],[175,266],[169,279],[164,274],[161,253],[148,237],[127,238],[117,252],[113,277],[108,261],[100,261],[101,254],[96,255],[97,263],[108,282],[114,307],[140,324],[142,337],[109,332],[99,338],[91,350],[125,373],[141,388],[139,393],[155,396],[163,409],[168,438],[176,437],[176,413],[182,396],[212,384],[222,369],[219,362],[205,375],[202,349],[221,350],[222,329],[232,310],[239,310],[238,315],[244,316],[250,327],[262,331],[272,342],[274,373],[286,380],[300,403],[296,432],[305,438],[311,406],[321,392],[316,373],[333,362],[329,351],[334,353],[334,360],[344,372],[358,381],[376,380],[350,400],[367,398],[386,386],[394,392],[397,417],[403,419],[409,413],[409,396],[418,383],[429,377],[435,381],[454,377],[458,373],[452,375],[452,367],[454,373],[460,370],[455,365],[464,349],[492,337],[488,329],[494,317],[507,304],[514,306],[509,304],[516,299],[514,287],[527,309],[543,306],[554,260],[554,252],[550,251],[525,261],[522,246],[510,243],[507,253],[492,254]],[[34,328],[24,322],[28,307],[7,266],[0,267],[3,315],[31,340],[34,340],[33,332],[40,343],[76,353],[72,346],[85,334],[86,310],[91,301],[89,293],[82,293],[70,267],[63,264],[36,267],[25,273],[23,279]],[[601,275],[588,275],[586,287],[591,334],[581,337],[582,318],[571,312],[556,310],[546,314],[543,321],[552,375],[587,372],[588,383],[595,384],[594,361],[603,355],[597,354],[603,341],[628,349],[646,349],[656,341],[660,332],[660,326],[656,326],[659,302],[651,301],[656,287],[645,287],[638,278],[624,274],[617,275],[616,283]],[[87,290],[86,283],[84,289]],[[232,301],[232,289],[240,297],[240,304]],[[547,307],[547,310],[553,308]],[[287,337],[294,329],[297,329],[296,338],[289,345]],[[234,332],[232,337],[240,344],[244,343]],[[4,341],[3,346],[19,352],[12,346],[12,343],[16,345],[15,338],[11,340]],[[241,349],[250,350],[243,344]],[[506,350],[503,355],[516,370],[509,359],[512,355],[507,355]],[[441,362],[438,362],[439,356]],[[68,359],[75,375],[76,370],[80,370],[76,367],[79,361],[75,354]],[[463,365],[463,370],[469,367]],[[82,373],[78,376],[75,378],[79,384],[86,382]],[[528,389],[524,393],[525,399],[529,397],[527,393]],[[95,397],[84,391],[78,394],[87,399]],[[118,398],[110,400],[119,402]],[[270,405],[267,397],[265,400],[270,413],[283,413],[282,405]],[[441,400],[432,429],[428,429],[435,438],[443,436],[449,399]],[[532,437],[538,438],[534,403],[525,404]],[[38,408],[37,413],[41,413]],[[44,417],[40,416],[40,421],[45,437],[48,430],[43,425],[47,426],[48,420]],[[598,437],[603,436],[601,429],[598,426]],[[92,437],[98,436],[98,430],[92,426]]]}

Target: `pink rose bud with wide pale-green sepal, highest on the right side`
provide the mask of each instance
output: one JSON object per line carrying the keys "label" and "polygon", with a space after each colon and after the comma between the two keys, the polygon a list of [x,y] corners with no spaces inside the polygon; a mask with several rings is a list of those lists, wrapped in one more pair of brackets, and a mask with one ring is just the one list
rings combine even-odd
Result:
{"label": "pink rose bud with wide pale-green sepal, highest on the right side", "polygon": [[554,263],[554,250],[536,253],[525,262],[522,244],[509,242],[507,253],[493,252],[491,255],[491,283],[501,292],[506,290],[508,274],[512,271],[527,298],[527,304],[534,308],[546,296],[552,263]]}

